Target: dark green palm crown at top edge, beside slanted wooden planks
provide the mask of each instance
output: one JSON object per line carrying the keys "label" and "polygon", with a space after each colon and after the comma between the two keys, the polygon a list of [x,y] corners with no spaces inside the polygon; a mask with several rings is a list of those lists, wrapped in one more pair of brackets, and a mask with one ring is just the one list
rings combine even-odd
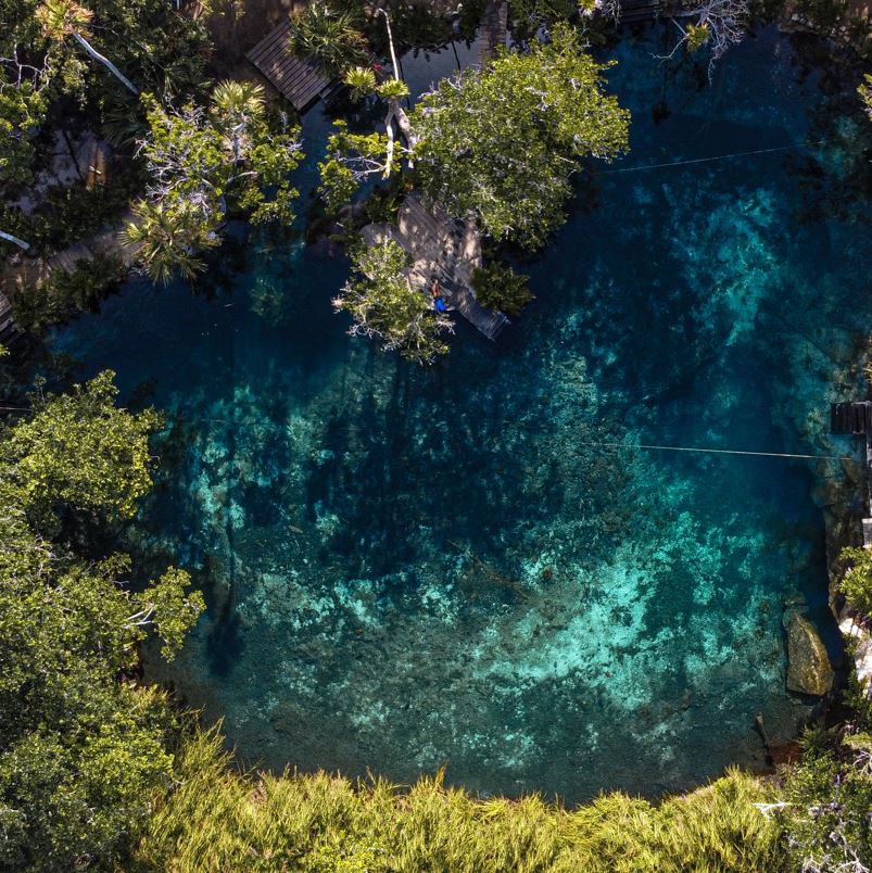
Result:
{"label": "dark green palm crown at top edge, beside slanted wooden planks", "polygon": [[298,58],[317,61],[331,74],[367,60],[367,42],[355,10],[334,11],[324,0],[312,0],[291,15],[289,49]]}

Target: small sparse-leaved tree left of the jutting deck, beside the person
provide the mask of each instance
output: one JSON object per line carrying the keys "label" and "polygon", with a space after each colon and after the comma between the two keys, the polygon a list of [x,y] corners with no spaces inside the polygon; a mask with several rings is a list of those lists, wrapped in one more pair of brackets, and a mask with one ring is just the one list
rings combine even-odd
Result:
{"label": "small sparse-leaved tree left of the jutting deck, beside the person", "polygon": [[349,333],[378,338],[386,351],[396,350],[418,364],[432,364],[448,351],[443,333],[451,318],[437,313],[425,292],[409,283],[406,253],[393,240],[352,252],[355,277],[333,300],[337,312],[354,319]]}

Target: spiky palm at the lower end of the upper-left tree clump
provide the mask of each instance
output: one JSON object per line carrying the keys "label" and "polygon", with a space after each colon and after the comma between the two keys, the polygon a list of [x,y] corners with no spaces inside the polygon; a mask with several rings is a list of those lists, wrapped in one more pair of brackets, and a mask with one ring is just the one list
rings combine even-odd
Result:
{"label": "spiky palm at the lower end of the upper-left tree clump", "polygon": [[169,284],[178,274],[187,281],[205,269],[198,252],[218,244],[201,211],[188,204],[167,207],[146,201],[134,207],[134,220],[121,233],[124,245],[137,246],[137,260],[152,281]]}

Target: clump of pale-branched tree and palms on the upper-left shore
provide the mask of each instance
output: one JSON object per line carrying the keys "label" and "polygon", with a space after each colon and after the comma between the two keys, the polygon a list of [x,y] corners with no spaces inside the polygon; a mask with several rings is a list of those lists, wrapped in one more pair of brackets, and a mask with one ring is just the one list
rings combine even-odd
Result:
{"label": "clump of pale-branched tree and palms on the upper-left shore", "polygon": [[139,140],[151,181],[123,239],[139,246],[149,275],[166,282],[202,269],[198,253],[218,244],[228,198],[252,222],[293,220],[289,176],[302,152],[299,128],[267,117],[261,86],[220,83],[208,107],[167,110],[143,97],[149,136]]}

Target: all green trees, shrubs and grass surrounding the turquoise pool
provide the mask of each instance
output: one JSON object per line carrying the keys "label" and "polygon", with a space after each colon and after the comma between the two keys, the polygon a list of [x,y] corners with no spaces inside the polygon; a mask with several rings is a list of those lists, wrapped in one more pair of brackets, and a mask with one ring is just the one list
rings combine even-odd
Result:
{"label": "all green trees, shrubs and grass surrounding the turquoise pool", "polygon": [[[386,9],[401,48],[452,35],[428,3]],[[553,0],[514,0],[511,9],[519,35],[578,20],[574,7]],[[585,7],[593,9],[610,14],[607,4]],[[481,10],[464,4],[462,33]],[[471,214],[497,242],[543,245],[563,222],[579,162],[627,147],[627,113],[606,93],[604,67],[579,33],[552,27],[549,42],[441,83],[407,112],[403,83],[363,67],[389,50],[384,25],[352,0],[313,3],[294,22],[296,51],[347,68],[353,89],[388,109],[384,131],[337,127],[321,168],[329,205],[346,203],[367,178],[402,175],[453,215]],[[712,28],[686,28],[698,50],[717,25],[700,17],[692,26]],[[0,0],[0,251],[48,255],[117,222],[134,202],[127,239],[166,280],[200,271],[230,213],[289,222],[296,192],[288,173],[301,157],[295,119],[267,106],[256,87],[213,81],[211,51],[202,21],[164,0]],[[867,83],[861,97],[872,103],[869,96]],[[39,191],[55,141],[85,131],[115,150],[109,184]],[[402,251],[351,253],[356,275],[334,306],[352,314],[355,329],[416,360],[444,353],[450,324],[401,278]],[[88,269],[17,301],[20,321],[38,329],[87,305],[99,293]],[[482,302],[510,313],[529,300],[523,277],[498,260],[473,283]],[[117,408],[116,394],[111,374],[65,394],[38,383],[0,428],[0,868],[872,866],[872,711],[855,687],[844,718],[810,729],[800,761],[775,777],[731,771],[660,804],[611,794],[567,809],[539,797],[475,798],[439,775],[401,788],[240,772],[217,728],[202,729],[139,678],[147,634],[172,658],[203,599],[174,567],[134,585],[130,558],[98,545],[150,489],[149,439],[161,427],[154,410]],[[869,615],[868,553],[845,559],[842,590]]]}

